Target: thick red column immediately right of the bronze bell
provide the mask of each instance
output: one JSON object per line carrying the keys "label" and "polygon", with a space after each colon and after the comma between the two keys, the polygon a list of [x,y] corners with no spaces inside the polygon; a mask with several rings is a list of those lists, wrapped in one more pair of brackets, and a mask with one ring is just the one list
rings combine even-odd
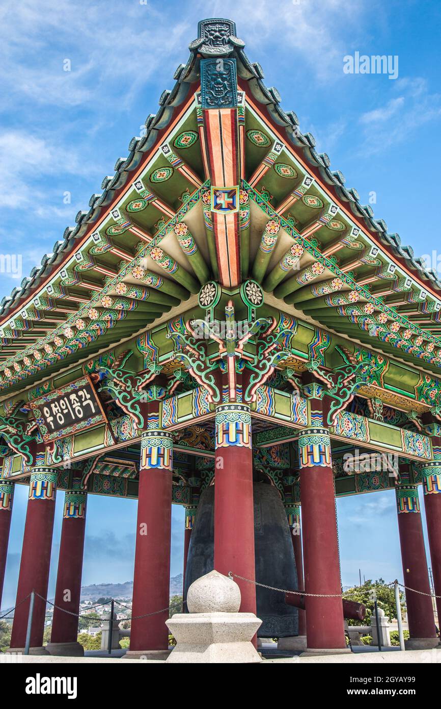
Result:
{"label": "thick red column immediately right of the bronze bell", "polygon": [[346,652],[343,605],[338,597],[340,564],[328,429],[302,430],[299,471],[305,592],[336,595],[306,597],[307,650]]}

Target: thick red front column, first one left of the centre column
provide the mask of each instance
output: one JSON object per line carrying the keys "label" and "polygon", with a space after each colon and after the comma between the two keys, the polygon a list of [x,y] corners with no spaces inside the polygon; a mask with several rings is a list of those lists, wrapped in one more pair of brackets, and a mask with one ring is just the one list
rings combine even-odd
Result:
{"label": "thick red front column, first one left of the centre column", "polygon": [[[139,466],[137,540],[134,553],[132,627],[125,657],[161,657],[168,652],[170,598],[171,433],[159,428],[158,402],[149,408]],[[158,613],[159,610],[163,613]],[[146,614],[146,618],[136,618]]]}

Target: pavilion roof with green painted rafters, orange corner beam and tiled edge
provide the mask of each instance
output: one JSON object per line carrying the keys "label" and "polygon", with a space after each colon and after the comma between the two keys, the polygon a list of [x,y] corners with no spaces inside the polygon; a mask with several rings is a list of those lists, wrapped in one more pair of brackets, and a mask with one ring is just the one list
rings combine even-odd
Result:
{"label": "pavilion roof with green painted rafters, orange corner beam and tiled edge", "polygon": [[[216,23],[225,28],[220,43],[206,34]],[[173,318],[210,279],[228,288],[250,276],[282,311],[437,372],[440,281],[282,111],[234,23],[204,21],[199,35],[103,194],[4,298],[0,391]],[[222,62],[224,81],[234,77],[218,113],[205,110],[210,57]],[[219,158],[225,141],[229,162]]]}

